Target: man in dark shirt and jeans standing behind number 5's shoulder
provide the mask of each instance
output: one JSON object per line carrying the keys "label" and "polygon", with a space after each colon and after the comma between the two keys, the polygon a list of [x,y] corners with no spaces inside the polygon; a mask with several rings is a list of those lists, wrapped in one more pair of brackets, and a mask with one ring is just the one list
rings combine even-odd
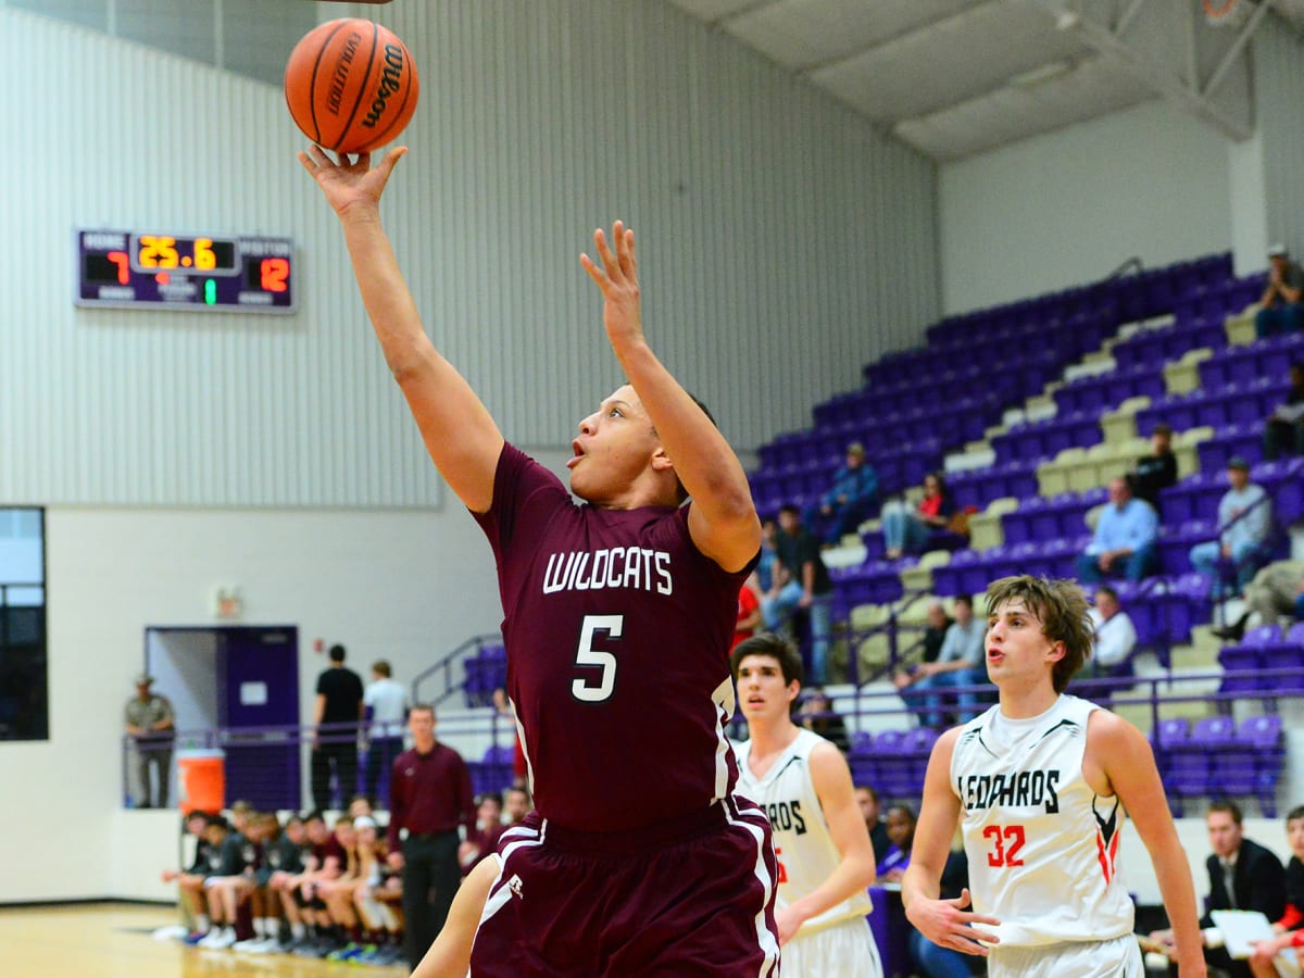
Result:
{"label": "man in dark shirt and jeans standing behind number 5's shoulder", "polygon": [[[819,542],[802,526],[801,510],[785,503],[778,510],[778,536],[775,540],[778,566],[782,574],[775,575],[775,587],[760,599],[765,627],[781,630],[798,609],[810,615],[812,683],[827,681],[828,642],[831,629],[831,599],[833,582],[828,567],[820,557]],[[785,583],[780,584],[780,580]],[[795,638],[795,636],[794,636]]]}

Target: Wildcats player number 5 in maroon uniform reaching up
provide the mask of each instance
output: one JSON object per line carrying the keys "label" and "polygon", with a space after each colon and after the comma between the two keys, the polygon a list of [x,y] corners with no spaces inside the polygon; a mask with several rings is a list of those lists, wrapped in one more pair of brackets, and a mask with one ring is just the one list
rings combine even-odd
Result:
{"label": "Wildcats player number 5 in maroon uniform reaching up", "polygon": [[580,421],[567,466],[584,503],[507,445],[432,346],[381,228],[404,151],[374,170],[316,146],[300,162],[340,218],[426,450],[497,558],[536,812],[499,842],[472,974],[777,973],[773,845],[733,795],[725,737],[738,588],[760,549],[742,466],[648,347],[621,222],[580,258],[629,379]]}

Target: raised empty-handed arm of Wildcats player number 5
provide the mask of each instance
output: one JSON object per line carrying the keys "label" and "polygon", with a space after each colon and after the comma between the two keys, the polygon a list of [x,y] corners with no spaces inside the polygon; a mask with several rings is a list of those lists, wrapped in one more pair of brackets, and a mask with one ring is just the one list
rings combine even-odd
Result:
{"label": "raised empty-handed arm of Wildcats player number 5", "polygon": [[601,228],[593,232],[601,267],[587,254],[579,257],[602,289],[606,338],[692,497],[692,542],[726,571],[742,570],[760,549],[760,520],[747,476],[720,429],[657,360],[643,335],[634,232],[617,220],[612,239],[614,252]]}

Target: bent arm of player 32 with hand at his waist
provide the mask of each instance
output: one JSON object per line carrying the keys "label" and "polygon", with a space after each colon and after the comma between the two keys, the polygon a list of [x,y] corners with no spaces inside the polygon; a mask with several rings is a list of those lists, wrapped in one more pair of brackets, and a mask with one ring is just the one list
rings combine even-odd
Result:
{"label": "bent arm of player 32 with hand at his waist", "polygon": [[928,758],[928,772],[923,778],[923,803],[919,806],[919,823],[914,829],[914,844],[910,846],[910,866],[901,879],[901,902],[910,923],[934,944],[953,948],[965,955],[987,956],[987,948],[977,941],[982,936],[988,944],[999,944],[999,939],[973,928],[981,923],[996,926],[995,917],[985,917],[966,911],[969,891],[965,889],[953,900],[939,900],[941,892],[941,871],[951,853],[951,838],[960,820],[960,799],[951,790],[951,755],[956,748],[960,728],[947,730],[938,738]]}

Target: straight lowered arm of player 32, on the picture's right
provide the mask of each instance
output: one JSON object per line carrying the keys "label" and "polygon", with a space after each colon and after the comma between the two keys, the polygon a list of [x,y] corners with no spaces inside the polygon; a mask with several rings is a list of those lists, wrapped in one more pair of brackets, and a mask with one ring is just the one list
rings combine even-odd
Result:
{"label": "straight lowered arm of player 32, on the picture's right", "polygon": [[1140,730],[1104,709],[1091,712],[1086,737],[1088,756],[1101,765],[1150,853],[1159,895],[1172,925],[1176,944],[1172,956],[1179,974],[1181,978],[1204,978],[1206,966],[1196,885],[1191,879],[1187,852],[1168,814],[1168,799],[1154,764],[1154,752]]}

